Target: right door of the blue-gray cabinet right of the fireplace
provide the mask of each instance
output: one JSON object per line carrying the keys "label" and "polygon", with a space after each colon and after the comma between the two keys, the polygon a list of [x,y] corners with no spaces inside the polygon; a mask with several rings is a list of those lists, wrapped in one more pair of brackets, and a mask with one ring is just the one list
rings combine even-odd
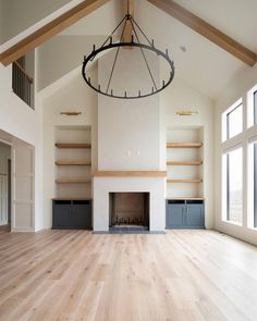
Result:
{"label": "right door of the blue-gray cabinet right of the fireplace", "polygon": [[205,227],[204,206],[200,203],[191,203],[185,208],[185,224],[186,227],[197,229]]}

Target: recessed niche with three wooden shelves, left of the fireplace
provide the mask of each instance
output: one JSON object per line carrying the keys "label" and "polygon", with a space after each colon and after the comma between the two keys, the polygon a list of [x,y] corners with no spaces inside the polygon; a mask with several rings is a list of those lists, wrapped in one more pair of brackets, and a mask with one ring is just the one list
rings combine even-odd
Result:
{"label": "recessed niche with three wooden shelves, left of the fireplace", "polygon": [[56,199],[90,199],[90,127],[57,126],[54,149]]}

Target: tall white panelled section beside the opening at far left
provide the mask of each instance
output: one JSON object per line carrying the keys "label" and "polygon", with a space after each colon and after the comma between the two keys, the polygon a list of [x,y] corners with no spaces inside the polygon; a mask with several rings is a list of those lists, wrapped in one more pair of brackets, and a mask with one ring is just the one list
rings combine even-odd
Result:
{"label": "tall white panelled section beside the opening at far left", "polygon": [[14,147],[12,159],[12,231],[34,231],[34,148]]}

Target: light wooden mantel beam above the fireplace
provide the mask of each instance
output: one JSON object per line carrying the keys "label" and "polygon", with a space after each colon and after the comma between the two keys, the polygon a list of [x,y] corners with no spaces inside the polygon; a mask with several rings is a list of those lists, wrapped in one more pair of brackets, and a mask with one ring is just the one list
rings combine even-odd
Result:
{"label": "light wooden mantel beam above the fireplace", "polygon": [[95,171],[93,177],[166,177],[167,171]]}

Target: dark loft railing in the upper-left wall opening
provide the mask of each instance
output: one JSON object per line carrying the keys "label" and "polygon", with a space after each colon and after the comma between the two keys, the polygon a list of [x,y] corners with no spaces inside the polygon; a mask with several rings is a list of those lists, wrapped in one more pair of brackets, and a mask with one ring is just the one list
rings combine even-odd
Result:
{"label": "dark loft railing in the upper-left wall opening", "polygon": [[15,61],[12,64],[12,89],[29,107],[32,106],[33,78]]}

